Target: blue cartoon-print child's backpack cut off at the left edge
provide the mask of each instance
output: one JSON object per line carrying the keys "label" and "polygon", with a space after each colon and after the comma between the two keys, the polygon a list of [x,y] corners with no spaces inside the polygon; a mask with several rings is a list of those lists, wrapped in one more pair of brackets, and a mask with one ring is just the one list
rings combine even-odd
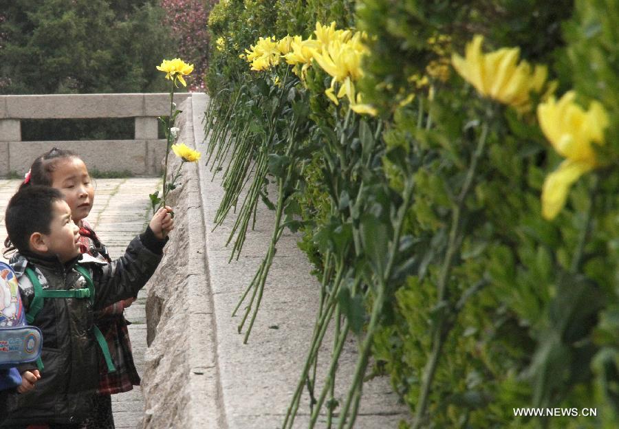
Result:
{"label": "blue cartoon-print child's backpack cut off at the left edge", "polygon": [[21,385],[15,366],[41,356],[41,331],[27,326],[12,268],[0,262],[0,391]]}

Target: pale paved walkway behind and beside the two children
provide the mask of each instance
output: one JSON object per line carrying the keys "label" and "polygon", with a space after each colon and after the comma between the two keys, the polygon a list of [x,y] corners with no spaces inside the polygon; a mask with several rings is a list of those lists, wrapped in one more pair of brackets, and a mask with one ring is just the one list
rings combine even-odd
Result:
{"label": "pale paved walkway behind and beside the two children", "polygon": [[[0,180],[0,240],[6,238],[4,210],[11,195],[17,190],[21,181]],[[142,232],[150,219],[149,194],[160,184],[158,178],[135,179],[98,179],[94,207],[88,220],[106,243],[112,259],[124,253],[129,241]],[[133,358],[142,375],[144,351],[146,350],[146,320],[144,302],[146,291],[142,289],[138,300],[125,311],[129,325],[129,336],[133,345]],[[134,429],[142,420],[144,405],[142,391],[133,391],[112,395],[112,407],[117,429]]]}

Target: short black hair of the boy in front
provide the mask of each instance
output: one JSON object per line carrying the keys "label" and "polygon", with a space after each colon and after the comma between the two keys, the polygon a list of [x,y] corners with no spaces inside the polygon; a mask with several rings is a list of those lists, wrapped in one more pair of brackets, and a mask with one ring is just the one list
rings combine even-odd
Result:
{"label": "short black hair of the boy in front", "polygon": [[5,256],[16,248],[19,252],[30,250],[30,236],[34,232],[50,234],[55,201],[63,201],[62,192],[55,188],[37,185],[19,188],[6,207],[4,223],[12,247],[4,251]]}

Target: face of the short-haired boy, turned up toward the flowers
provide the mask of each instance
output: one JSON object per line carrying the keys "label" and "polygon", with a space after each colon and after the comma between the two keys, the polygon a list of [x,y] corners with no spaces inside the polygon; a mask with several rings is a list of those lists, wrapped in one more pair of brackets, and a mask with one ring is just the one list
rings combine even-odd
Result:
{"label": "face of the short-haired boy, turned up toward the flowers", "polygon": [[71,209],[66,201],[54,201],[50,234],[41,234],[47,245],[47,254],[56,255],[65,263],[80,254],[80,228],[71,219]]}

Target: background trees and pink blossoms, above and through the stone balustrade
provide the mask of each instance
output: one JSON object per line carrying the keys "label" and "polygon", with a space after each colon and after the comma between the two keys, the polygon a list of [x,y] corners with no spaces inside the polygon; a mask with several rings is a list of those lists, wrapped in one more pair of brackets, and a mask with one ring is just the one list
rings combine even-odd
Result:
{"label": "background trees and pink blossoms, above and through the stone balustrade", "polygon": [[[0,0],[0,94],[166,92],[164,58],[204,87],[211,7],[203,0]],[[184,87],[179,89],[186,91]],[[127,120],[30,121],[23,140],[133,139]]]}

